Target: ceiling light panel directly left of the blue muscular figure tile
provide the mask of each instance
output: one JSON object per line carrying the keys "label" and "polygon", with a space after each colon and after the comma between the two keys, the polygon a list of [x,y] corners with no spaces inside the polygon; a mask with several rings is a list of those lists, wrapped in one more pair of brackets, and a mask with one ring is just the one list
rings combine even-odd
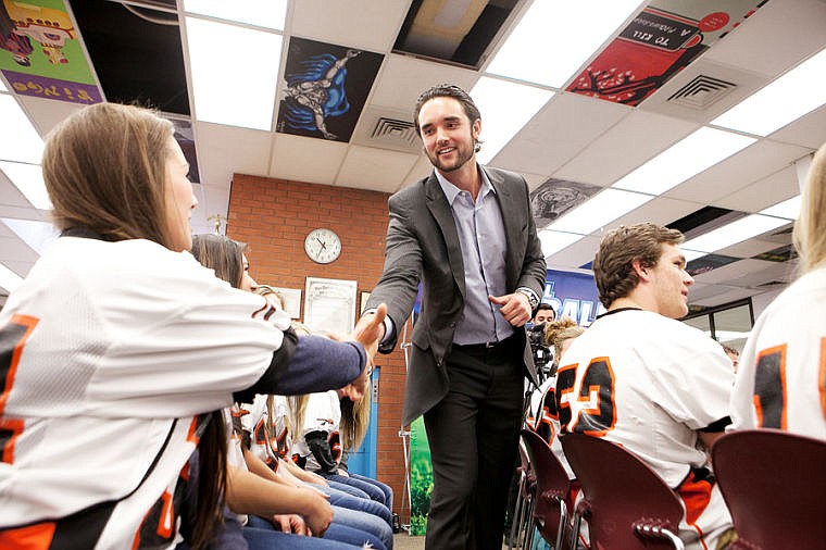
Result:
{"label": "ceiling light panel directly left of the blue muscular figure tile", "polygon": [[271,130],[283,37],[196,17],[186,28],[196,118]]}

